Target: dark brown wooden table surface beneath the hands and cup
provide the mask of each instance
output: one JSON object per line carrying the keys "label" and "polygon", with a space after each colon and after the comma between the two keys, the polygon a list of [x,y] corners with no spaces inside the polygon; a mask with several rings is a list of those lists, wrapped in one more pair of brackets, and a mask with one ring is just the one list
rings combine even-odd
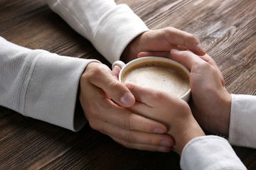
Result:
{"label": "dark brown wooden table surface beneath the hands and cup", "polygon": [[[150,29],[193,33],[233,94],[256,94],[255,0],[117,0]],[[0,36],[31,49],[94,58],[110,66],[43,0],[0,1]],[[1,97],[1,96],[0,96]],[[247,169],[256,150],[233,147]],[[178,154],[127,149],[89,125],[71,132],[0,107],[0,169],[180,169]]]}

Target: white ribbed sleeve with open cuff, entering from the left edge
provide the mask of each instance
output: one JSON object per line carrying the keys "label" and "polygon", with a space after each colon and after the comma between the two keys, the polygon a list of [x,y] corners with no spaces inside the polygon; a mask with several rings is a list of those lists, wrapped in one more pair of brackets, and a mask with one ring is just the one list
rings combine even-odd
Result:
{"label": "white ribbed sleeve with open cuff, entering from the left edge", "polygon": [[97,61],[30,50],[1,37],[0,47],[0,105],[80,130],[86,121],[82,113],[75,114],[80,76],[88,63]]}

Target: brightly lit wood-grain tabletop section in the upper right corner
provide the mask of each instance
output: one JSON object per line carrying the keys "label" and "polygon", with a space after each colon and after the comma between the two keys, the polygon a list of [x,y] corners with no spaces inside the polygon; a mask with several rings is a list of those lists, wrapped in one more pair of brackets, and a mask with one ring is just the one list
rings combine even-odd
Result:
{"label": "brightly lit wood-grain tabletop section in the upper right corner", "polygon": [[256,1],[129,1],[127,4],[150,29],[171,26],[196,35],[223,72],[228,91],[255,95]]}

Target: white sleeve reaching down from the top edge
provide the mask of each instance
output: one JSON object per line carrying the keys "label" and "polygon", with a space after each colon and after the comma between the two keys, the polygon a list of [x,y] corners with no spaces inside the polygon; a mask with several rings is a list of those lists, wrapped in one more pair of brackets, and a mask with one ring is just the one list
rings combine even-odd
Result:
{"label": "white sleeve reaching down from the top edge", "polygon": [[129,42],[148,30],[129,6],[117,5],[114,0],[47,0],[47,3],[111,63],[119,60]]}

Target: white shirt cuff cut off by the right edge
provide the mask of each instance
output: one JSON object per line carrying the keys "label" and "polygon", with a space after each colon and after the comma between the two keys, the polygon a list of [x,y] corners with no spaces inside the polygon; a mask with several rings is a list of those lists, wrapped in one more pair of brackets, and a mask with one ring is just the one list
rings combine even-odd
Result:
{"label": "white shirt cuff cut off by the right edge", "polygon": [[256,148],[256,96],[232,94],[230,130],[231,145]]}

